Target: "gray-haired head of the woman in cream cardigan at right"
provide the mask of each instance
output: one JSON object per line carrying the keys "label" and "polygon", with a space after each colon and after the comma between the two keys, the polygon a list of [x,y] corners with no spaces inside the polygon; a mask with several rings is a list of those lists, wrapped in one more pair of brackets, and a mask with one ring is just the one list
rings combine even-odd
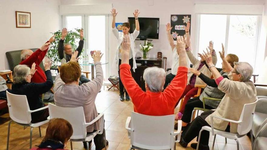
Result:
{"label": "gray-haired head of the woman in cream cardigan at right", "polygon": [[253,74],[253,68],[247,62],[234,62],[236,66],[236,72],[241,74],[241,82],[248,82]]}

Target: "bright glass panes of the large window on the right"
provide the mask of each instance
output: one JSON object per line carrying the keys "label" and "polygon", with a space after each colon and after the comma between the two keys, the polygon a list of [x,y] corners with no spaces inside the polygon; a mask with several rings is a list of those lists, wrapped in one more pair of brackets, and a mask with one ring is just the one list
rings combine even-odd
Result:
{"label": "bright glass panes of the large window on the right", "polygon": [[217,54],[216,67],[221,67],[221,43],[226,54],[235,54],[240,62],[248,62],[255,68],[258,39],[258,19],[255,15],[198,15],[199,37],[197,52],[202,53],[213,40]]}

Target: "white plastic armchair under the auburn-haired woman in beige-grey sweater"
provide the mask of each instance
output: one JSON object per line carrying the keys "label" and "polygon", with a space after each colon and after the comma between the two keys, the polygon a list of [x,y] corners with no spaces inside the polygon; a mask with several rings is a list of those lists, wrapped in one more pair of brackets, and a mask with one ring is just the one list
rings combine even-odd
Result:
{"label": "white plastic armchair under the auburn-haired woman in beige-grey sweater", "polygon": [[[104,114],[99,114],[94,120],[87,123],[83,112],[83,107],[60,107],[49,103],[49,119],[63,118],[66,119],[73,128],[73,134],[70,137],[70,146],[72,150],[72,142],[86,142],[87,150],[89,150],[89,141],[91,141],[97,134],[104,132],[104,141],[106,141],[106,133],[104,130]],[[100,130],[87,134],[86,127],[93,125],[100,120]],[[106,142],[105,149],[106,149]]]}

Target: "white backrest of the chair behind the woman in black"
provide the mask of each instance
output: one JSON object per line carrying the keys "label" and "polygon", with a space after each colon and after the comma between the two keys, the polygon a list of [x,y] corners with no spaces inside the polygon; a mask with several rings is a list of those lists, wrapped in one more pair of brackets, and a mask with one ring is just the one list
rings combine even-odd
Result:
{"label": "white backrest of the chair behind the woman in black", "polygon": [[26,95],[15,95],[6,91],[7,105],[10,118],[21,124],[30,124],[30,107]]}

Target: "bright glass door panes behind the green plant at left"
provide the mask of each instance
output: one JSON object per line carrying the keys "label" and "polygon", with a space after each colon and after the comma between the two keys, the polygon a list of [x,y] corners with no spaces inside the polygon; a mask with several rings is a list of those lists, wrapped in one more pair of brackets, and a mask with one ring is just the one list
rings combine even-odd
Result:
{"label": "bright glass door panes behind the green plant at left", "polygon": [[[108,62],[108,15],[68,15],[63,16],[63,27],[68,31],[76,31],[75,28],[83,28],[84,42],[83,49],[85,50],[81,56],[83,61],[93,62],[90,51],[100,50],[103,53],[101,62]],[[76,40],[76,45],[79,45],[79,39]],[[109,76],[109,65],[102,65],[104,78]],[[81,65],[84,71],[92,72],[90,65]],[[91,75],[90,75],[91,77]]]}

